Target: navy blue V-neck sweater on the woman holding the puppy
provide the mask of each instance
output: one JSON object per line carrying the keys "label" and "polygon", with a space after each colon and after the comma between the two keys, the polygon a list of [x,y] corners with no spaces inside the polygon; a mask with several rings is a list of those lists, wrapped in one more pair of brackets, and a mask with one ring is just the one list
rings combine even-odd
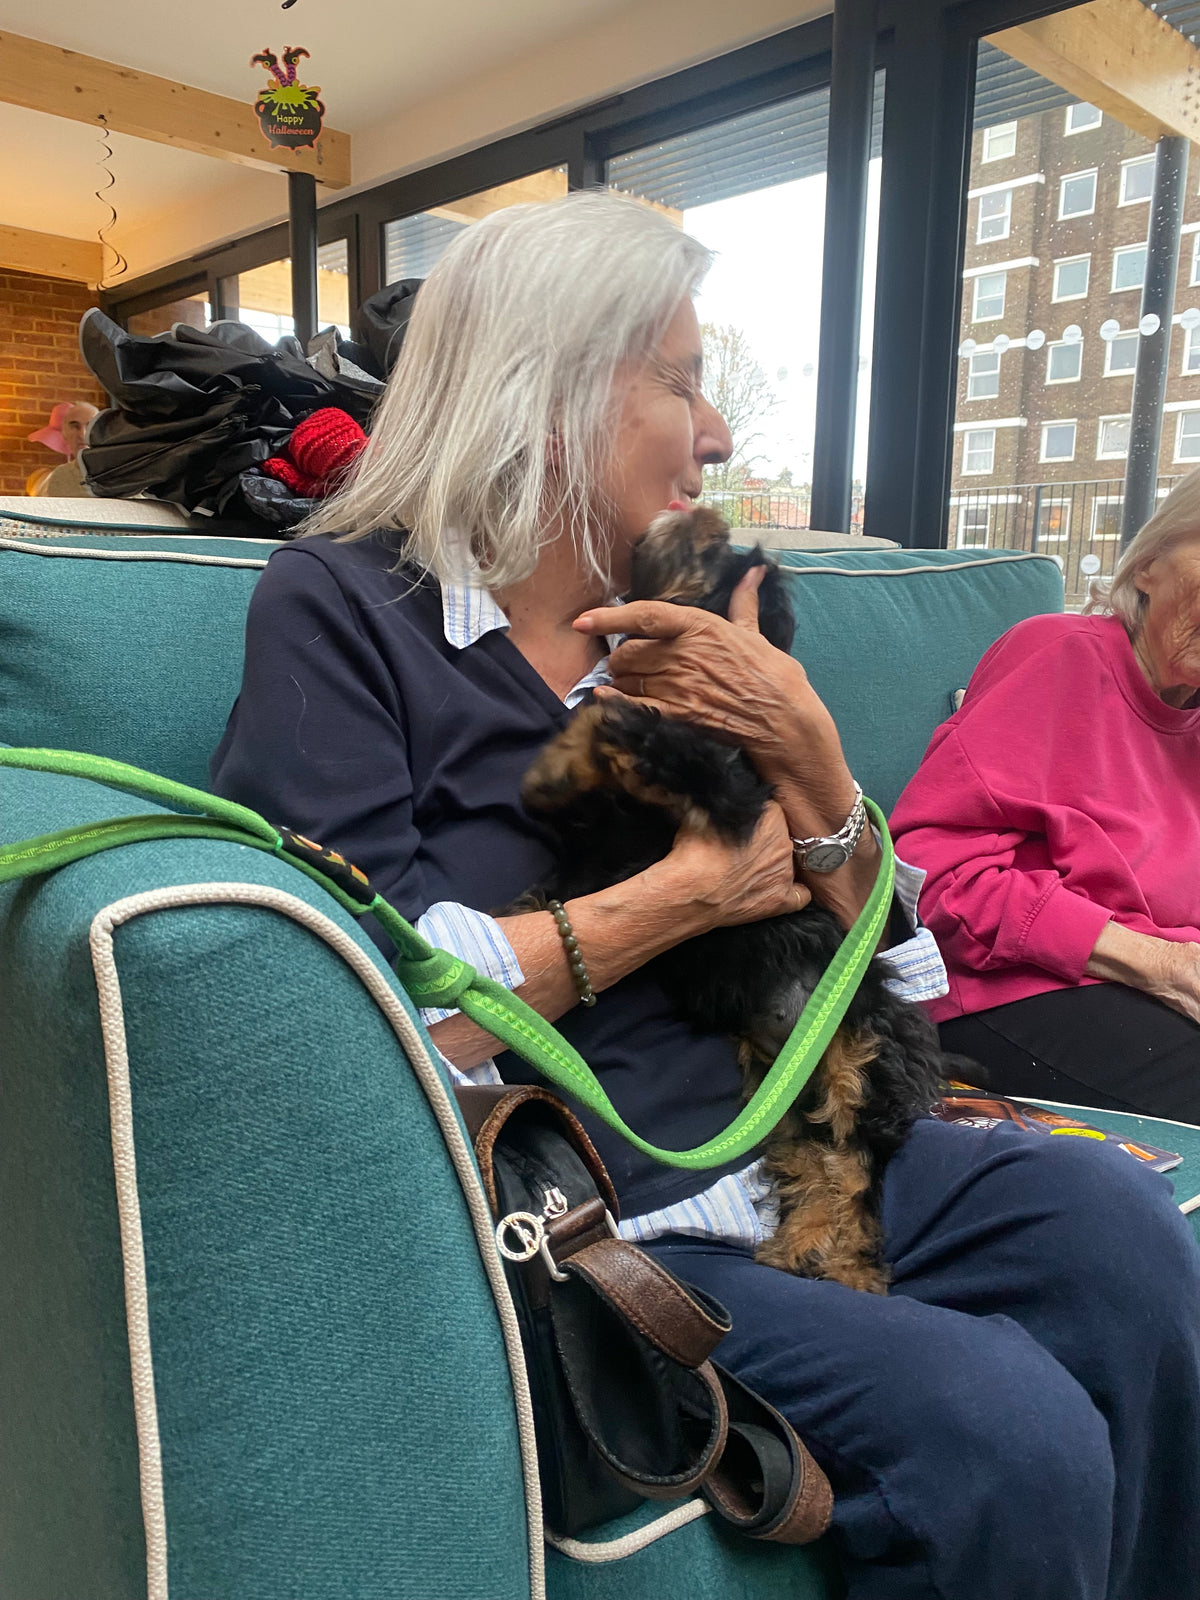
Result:
{"label": "navy blue V-neck sweater on the woman holding the puppy", "polygon": [[[390,571],[395,562],[378,538],[301,539],[270,557],[250,603],[242,693],[213,757],[213,789],[339,850],[410,922],[437,901],[494,912],[549,864],[520,782],[571,714],[507,634],[456,650],[437,584],[414,586]],[[688,1149],[733,1120],[733,1046],[696,1034],[645,976],[632,973],[557,1026],[653,1142]],[[510,1053],[496,1066],[514,1083],[536,1077]],[[624,1216],[744,1165],[685,1173],[582,1120]]]}

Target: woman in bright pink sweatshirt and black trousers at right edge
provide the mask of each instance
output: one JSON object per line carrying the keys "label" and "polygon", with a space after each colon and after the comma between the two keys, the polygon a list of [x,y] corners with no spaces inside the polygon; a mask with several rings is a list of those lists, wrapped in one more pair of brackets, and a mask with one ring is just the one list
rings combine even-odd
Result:
{"label": "woman in bright pink sweatshirt and black trousers at right edge", "polygon": [[982,1086],[1200,1123],[1200,472],[992,645],[891,827]]}

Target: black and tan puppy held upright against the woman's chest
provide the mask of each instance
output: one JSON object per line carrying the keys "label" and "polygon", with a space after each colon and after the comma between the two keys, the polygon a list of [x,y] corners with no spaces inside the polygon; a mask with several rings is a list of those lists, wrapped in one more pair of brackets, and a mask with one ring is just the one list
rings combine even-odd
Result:
{"label": "black and tan puppy held upright against the woman's chest", "polygon": [[[762,549],[738,554],[715,512],[664,512],[634,550],[630,598],[670,600],[728,614],[734,586],[765,565],[760,629],[787,650],[794,619],[786,579]],[[683,822],[731,842],[750,837],[770,798],[749,758],[690,723],[635,702],[578,712],[526,774],[526,810],[555,854],[522,909],[571,899],[634,877],[670,850]],[[747,1091],[782,1048],[842,942],[814,906],[715,928],[651,963],[672,1003],[698,1029],[739,1045]],[[880,1179],[888,1157],[941,1091],[942,1056],[925,1016],[888,989],[872,960],[808,1086],[768,1139],[779,1229],[758,1259],[803,1277],[883,1293]]]}

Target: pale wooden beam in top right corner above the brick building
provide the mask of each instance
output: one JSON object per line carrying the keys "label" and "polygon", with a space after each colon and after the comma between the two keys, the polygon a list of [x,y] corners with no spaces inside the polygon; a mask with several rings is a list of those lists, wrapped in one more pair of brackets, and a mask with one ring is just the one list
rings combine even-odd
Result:
{"label": "pale wooden beam in top right corner above the brick building", "polygon": [[1090,0],[989,43],[1146,139],[1200,144],[1200,50],[1141,0]]}

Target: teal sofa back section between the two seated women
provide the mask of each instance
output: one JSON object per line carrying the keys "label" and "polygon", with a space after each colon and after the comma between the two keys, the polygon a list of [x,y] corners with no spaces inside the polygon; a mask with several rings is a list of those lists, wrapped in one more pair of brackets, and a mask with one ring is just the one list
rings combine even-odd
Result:
{"label": "teal sofa back section between the two seated women", "polygon": [[851,771],[885,811],[979,658],[1014,622],[1062,610],[1048,555],[1011,550],[782,550],[792,654],[834,714]]}

